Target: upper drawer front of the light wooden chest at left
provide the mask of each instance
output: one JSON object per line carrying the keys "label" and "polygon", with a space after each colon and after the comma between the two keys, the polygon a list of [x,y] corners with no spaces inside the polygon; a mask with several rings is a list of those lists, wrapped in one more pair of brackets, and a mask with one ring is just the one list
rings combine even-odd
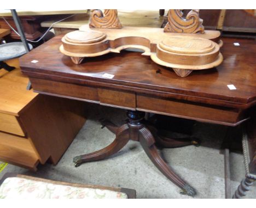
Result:
{"label": "upper drawer front of the light wooden chest at left", "polygon": [[0,113],[0,131],[25,136],[24,131],[18,122],[18,118],[14,115]]}

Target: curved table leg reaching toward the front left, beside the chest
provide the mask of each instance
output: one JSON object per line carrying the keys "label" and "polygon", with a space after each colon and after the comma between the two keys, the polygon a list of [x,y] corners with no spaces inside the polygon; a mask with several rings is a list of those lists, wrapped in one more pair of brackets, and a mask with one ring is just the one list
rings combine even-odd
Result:
{"label": "curved table leg reaching toward the front left, beside the chest", "polygon": [[84,162],[103,160],[104,158],[118,152],[127,144],[130,139],[128,130],[129,126],[127,124],[124,124],[118,129],[115,140],[111,144],[106,146],[106,148],[103,148],[96,152],[92,152],[90,154],[74,157],[73,162],[75,163],[75,167],[80,166],[80,164]]}

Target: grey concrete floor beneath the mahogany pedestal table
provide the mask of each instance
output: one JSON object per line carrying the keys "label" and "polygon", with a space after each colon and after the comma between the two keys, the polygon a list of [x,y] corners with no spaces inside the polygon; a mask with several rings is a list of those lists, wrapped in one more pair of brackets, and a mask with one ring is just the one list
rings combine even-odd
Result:
{"label": "grey concrete floor beneath the mahogany pedestal table", "polygon": [[[104,148],[114,139],[113,133],[106,128],[101,129],[98,119],[108,118],[122,124],[126,118],[122,109],[91,103],[86,105],[89,109],[88,121],[56,166],[50,163],[39,165],[38,171],[33,173],[8,164],[0,173],[0,178],[4,173],[14,172],[51,180],[133,188],[137,198],[191,198],[179,194],[180,189],[160,173],[137,142],[130,141],[107,160],[84,163],[75,168],[72,162],[74,156]],[[193,134],[201,139],[201,146],[161,150],[162,156],[176,173],[196,189],[195,198],[225,198],[224,156],[219,151],[225,133],[225,126],[196,123]],[[231,152],[230,163],[231,191],[234,193],[245,176],[242,154]],[[256,198],[255,184],[251,189],[246,198]]]}

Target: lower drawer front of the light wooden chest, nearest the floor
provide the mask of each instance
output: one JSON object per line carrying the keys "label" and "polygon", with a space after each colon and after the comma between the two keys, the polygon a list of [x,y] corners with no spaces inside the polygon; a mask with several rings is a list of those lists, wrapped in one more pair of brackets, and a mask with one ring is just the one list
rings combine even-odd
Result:
{"label": "lower drawer front of the light wooden chest, nearest the floor", "polygon": [[0,132],[0,158],[5,162],[37,170],[39,158],[30,140]]}

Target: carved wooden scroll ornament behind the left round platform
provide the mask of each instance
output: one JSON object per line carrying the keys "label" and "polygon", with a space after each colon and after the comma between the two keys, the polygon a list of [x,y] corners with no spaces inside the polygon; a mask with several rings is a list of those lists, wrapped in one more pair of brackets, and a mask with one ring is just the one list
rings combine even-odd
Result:
{"label": "carved wooden scroll ornament behind the left round platform", "polygon": [[117,9],[104,9],[104,13],[100,9],[93,9],[89,26],[95,28],[122,28]]}

